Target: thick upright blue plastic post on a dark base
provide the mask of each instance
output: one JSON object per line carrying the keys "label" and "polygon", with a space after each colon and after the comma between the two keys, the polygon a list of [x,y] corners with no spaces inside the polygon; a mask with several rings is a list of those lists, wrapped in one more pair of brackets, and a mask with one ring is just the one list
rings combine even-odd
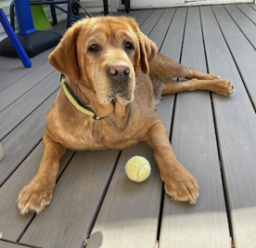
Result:
{"label": "thick upright blue plastic post on a dark base", "polygon": [[15,0],[15,9],[19,22],[19,33],[29,34],[36,32],[33,25],[29,0]]}

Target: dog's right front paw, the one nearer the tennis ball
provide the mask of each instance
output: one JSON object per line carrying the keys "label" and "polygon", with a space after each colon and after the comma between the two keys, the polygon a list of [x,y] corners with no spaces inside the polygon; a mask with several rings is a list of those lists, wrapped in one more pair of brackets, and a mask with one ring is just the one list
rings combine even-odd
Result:
{"label": "dog's right front paw, the one nearer the tennis ball", "polygon": [[199,196],[198,182],[188,170],[181,165],[165,176],[162,175],[165,182],[165,190],[173,200],[188,201],[193,205],[197,202]]}

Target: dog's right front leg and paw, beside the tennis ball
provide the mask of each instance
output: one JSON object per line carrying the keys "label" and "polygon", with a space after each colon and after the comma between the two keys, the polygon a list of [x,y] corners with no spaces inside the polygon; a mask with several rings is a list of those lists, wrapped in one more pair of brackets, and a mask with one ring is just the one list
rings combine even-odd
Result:
{"label": "dog's right front leg and paw, beside the tennis ball", "polygon": [[173,153],[166,126],[157,119],[148,132],[146,142],[154,149],[154,158],[160,168],[161,179],[165,182],[165,190],[172,199],[189,201],[195,204],[199,195],[198,182]]}

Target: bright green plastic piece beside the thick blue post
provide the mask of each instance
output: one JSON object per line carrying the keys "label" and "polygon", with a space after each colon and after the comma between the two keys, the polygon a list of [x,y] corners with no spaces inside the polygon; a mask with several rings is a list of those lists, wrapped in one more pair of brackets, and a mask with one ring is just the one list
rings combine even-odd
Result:
{"label": "bright green plastic piece beside the thick blue post", "polygon": [[44,12],[43,6],[31,6],[32,19],[36,30],[46,30],[51,28],[49,20]]}

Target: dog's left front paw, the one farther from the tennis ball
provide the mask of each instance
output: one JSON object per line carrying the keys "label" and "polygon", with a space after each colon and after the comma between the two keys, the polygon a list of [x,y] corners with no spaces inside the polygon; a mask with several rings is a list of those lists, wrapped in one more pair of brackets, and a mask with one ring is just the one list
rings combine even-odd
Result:
{"label": "dog's left front paw, the one farther from the tennis ball", "polygon": [[29,212],[41,212],[49,205],[52,199],[52,187],[45,186],[40,182],[30,182],[24,187],[17,199],[20,214],[24,215]]}

